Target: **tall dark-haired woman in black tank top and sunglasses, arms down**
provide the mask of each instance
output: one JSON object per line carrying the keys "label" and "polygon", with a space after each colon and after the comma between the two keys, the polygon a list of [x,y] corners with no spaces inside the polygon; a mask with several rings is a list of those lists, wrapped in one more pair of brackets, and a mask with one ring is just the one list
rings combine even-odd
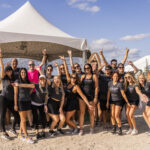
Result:
{"label": "tall dark-haired woman in black tank top and sunglasses, arms down", "polygon": [[[87,97],[89,103],[95,107],[98,100],[98,78],[97,75],[93,74],[92,66],[90,64],[84,65],[85,74],[81,76],[81,89],[84,95]],[[82,112],[80,114],[80,134],[83,134],[83,124],[84,124],[84,115],[85,115],[86,105],[82,103]],[[90,114],[90,134],[94,133],[94,110],[89,110]]]}

